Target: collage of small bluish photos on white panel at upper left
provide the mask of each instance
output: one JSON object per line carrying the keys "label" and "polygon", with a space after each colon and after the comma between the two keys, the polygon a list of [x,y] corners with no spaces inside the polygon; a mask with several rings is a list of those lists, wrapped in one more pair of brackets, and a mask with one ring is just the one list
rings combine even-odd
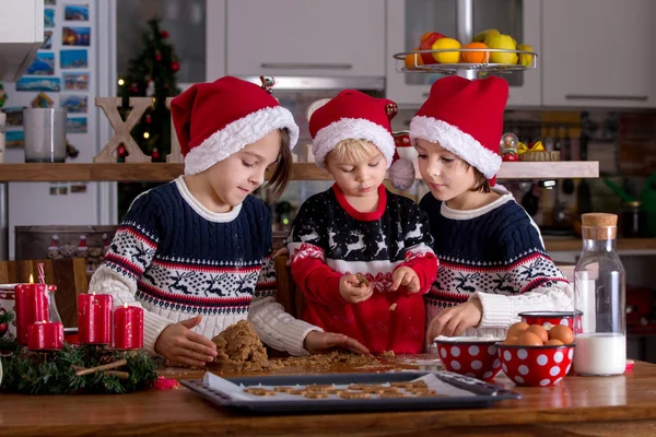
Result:
{"label": "collage of small bluish photos on white panel at upper left", "polygon": [[[91,162],[94,155],[95,126],[92,82],[97,35],[94,29],[95,0],[45,0],[44,43],[24,75],[15,82],[15,91],[7,90],[7,146],[22,147],[23,109],[26,107],[67,109],[67,161]],[[91,106],[91,107],[90,107]],[[92,126],[90,126],[92,125]],[[79,158],[72,155],[78,153]],[[84,187],[85,190],[85,187]],[[68,193],[51,188],[51,194]],[[73,190],[71,185],[70,191]],[[78,192],[83,191],[78,189]]]}

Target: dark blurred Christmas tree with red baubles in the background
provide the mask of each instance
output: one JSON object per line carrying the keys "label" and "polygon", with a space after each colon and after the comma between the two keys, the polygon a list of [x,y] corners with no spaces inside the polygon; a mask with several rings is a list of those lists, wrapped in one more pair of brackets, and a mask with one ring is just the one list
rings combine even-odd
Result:
{"label": "dark blurred Christmas tree with red baubles in the background", "polygon": [[[118,81],[119,96],[124,98],[120,113],[124,119],[130,110],[128,98],[136,96],[153,97],[153,108],[145,111],[140,122],[132,129],[132,138],[153,163],[166,162],[171,153],[171,113],[166,109],[166,97],[179,94],[176,73],[180,66],[174,47],[168,42],[168,32],[160,26],[161,20],[154,17],[148,22],[143,34],[143,48],[130,59],[128,72]],[[117,162],[124,162],[127,150],[120,145]],[[118,186],[119,218],[128,211],[132,200],[141,192],[159,184],[129,182]]]}

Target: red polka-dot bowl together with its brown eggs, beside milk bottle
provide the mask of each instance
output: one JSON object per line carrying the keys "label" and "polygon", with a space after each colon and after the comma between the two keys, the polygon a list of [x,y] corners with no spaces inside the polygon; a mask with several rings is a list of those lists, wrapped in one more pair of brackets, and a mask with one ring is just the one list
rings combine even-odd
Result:
{"label": "red polka-dot bowl together with its brown eggs, beside milk bottle", "polygon": [[518,386],[560,383],[572,368],[574,332],[570,327],[517,322],[499,344],[501,367]]}

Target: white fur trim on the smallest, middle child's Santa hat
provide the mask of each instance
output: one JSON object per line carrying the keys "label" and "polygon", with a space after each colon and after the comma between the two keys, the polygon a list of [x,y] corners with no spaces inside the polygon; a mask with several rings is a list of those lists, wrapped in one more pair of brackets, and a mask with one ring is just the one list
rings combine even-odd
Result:
{"label": "white fur trim on the smallest, middle child's Santa hat", "polygon": [[387,161],[387,167],[394,158],[394,137],[380,125],[362,118],[341,118],[320,129],[312,141],[315,163],[325,167],[326,155],[343,140],[365,140],[374,143]]}

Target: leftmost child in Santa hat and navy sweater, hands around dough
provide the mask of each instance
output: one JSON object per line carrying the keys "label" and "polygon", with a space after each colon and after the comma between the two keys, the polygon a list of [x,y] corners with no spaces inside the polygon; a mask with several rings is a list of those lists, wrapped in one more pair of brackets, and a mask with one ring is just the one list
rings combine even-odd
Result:
{"label": "leftmost child in Santa hat and navy sweater, hands around dough", "polygon": [[271,216],[250,194],[273,165],[273,197],[284,190],[298,139],[292,114],[267,83],[230,76],[192,85],[171,107],[185,176],[134,200],[91,292],[112,294],[115,306],[143,307],[144,347],[181,364],[212,361],[209,339],[242,319],[291,354],[335,346],[366,353],[274,300]]}

